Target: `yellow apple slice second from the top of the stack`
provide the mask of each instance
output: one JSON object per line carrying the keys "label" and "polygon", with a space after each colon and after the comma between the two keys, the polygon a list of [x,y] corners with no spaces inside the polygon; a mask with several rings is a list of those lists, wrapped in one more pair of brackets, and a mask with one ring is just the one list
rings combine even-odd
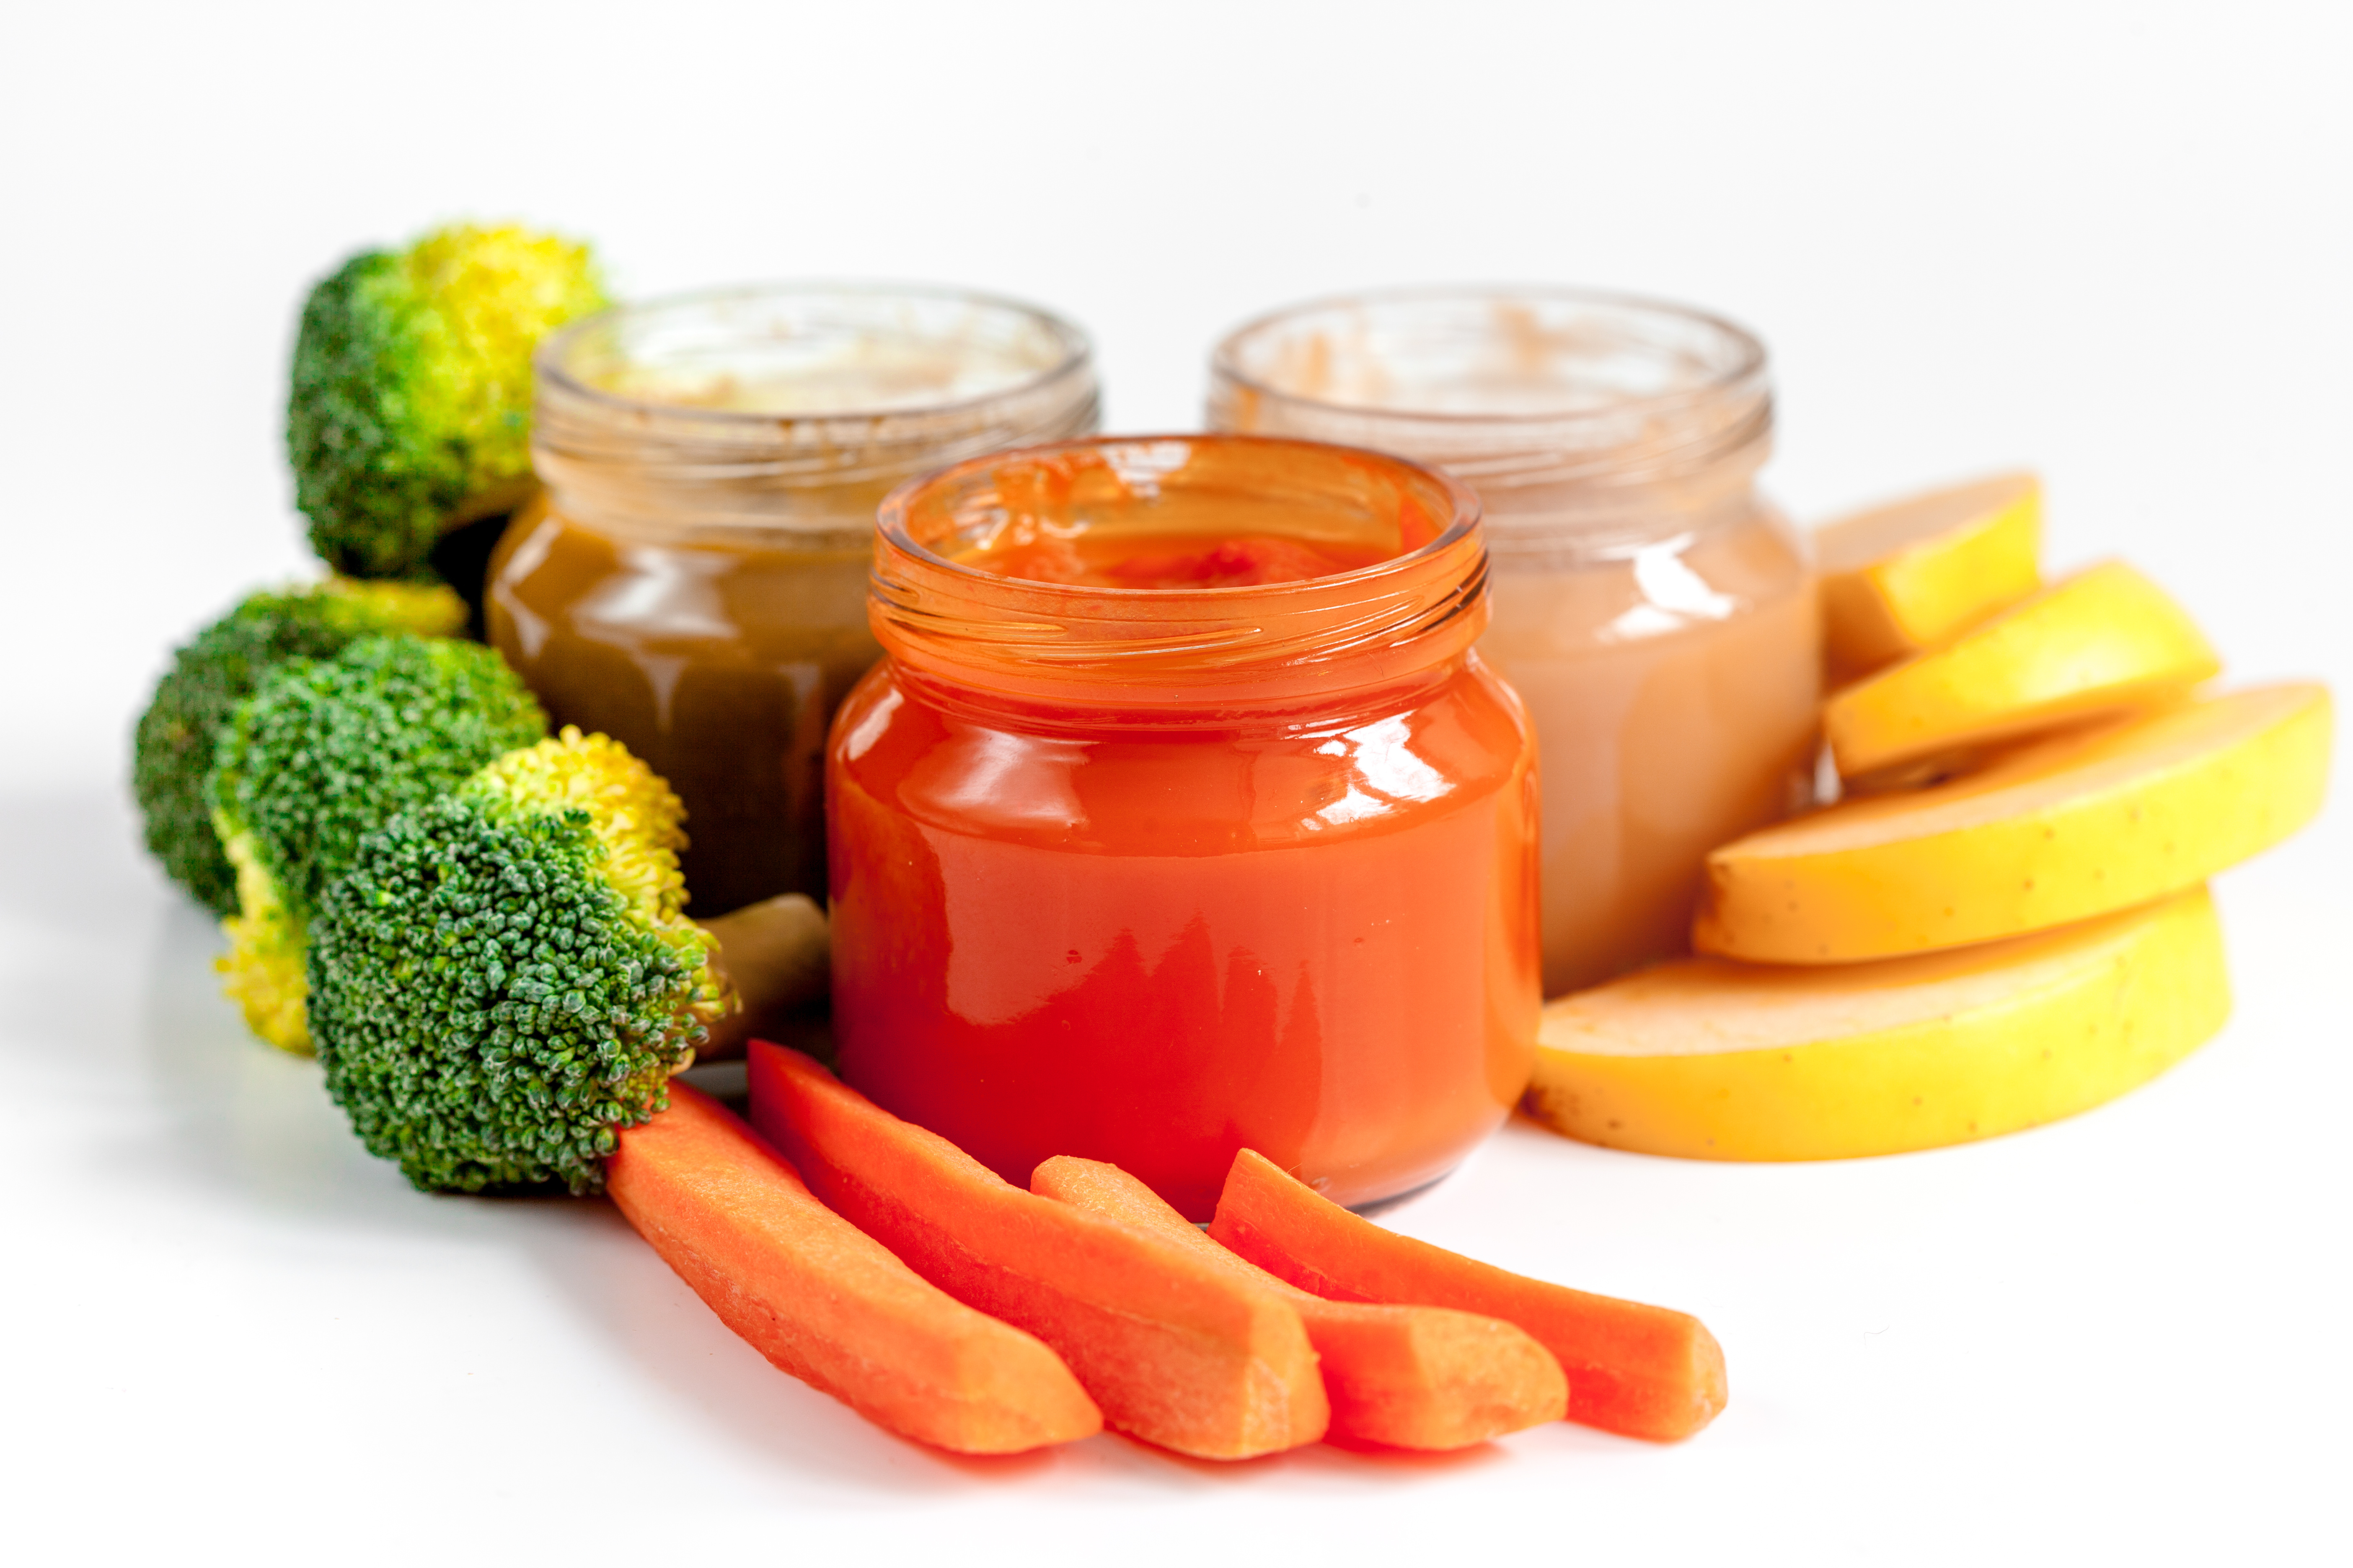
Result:
{"label": "yellow apple slice second from the top of the stack", "polygon": [[1847,778],[2177,696],[2221,672],[2162,588],[2101,562],[1821,708]]}

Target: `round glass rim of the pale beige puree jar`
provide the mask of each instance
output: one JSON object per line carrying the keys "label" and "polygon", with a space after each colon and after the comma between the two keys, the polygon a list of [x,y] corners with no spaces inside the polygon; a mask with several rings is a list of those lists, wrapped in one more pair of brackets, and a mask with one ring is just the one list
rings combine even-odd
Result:
{"label": "round glass rim of the pale beige puree jar", "polygon": [[[1299,317],[1337,310],[1381,310],[1391,306],[1417,306],[1417,303],[1461,303],[1461,306],[1494,306],[1494,303],[1546,303],[1546,306],[1595,306],[1609,310],[1624,310],[1631,315],[1647,315],[1666,322],[1685,322],[1704,327],[1718,339],[1722,339],[1734,353],[1727,364],[1713,367],[1704,378],[1680,386],[1668,393],[1626,395],[1595,402],[1588,407],[1565,407],[1565,409],[1494,409],[1494,411],[1459,411],[1459,409],[1414,409],[1393,402],[1341,402],[1334,397],[1313,397],[1306,393],[1292,393],[1273,381],[1242,367],[1242,348],[1249,339],[1292,322]],[[1278,306],[1252,320],[1233,327],[1219,339],[1217,348],[1209,353],[1209,371],[1238,388],[1249,390],[1257,397],[1285,402],[1308,411],[1341,414],[1348,418],[1395,418],[1400,423],[1426,423],[1438,428],[1473,428],[1473,425],[1504,425],[1504,428],[1541,428],[1572,421],[1602,421],[1624,418],[1626,414],[1647,409],[1675,409],[1692,402],[1706,402],[1720,397],[1725,390],[1739,388],[1744,381],[1762,374],[1767,362],[1765,341],[1715,310],[1701,310],[1699,306],[1685,306],[1668,299],[1657,299],[1649,294],[1631,294],[1617,289],[1586,289],[1577,284],[1405,284],[1391,289],[1362,289],[1355,294],[1325,294],[1318,299],[1294,301],[1289,306]]]}

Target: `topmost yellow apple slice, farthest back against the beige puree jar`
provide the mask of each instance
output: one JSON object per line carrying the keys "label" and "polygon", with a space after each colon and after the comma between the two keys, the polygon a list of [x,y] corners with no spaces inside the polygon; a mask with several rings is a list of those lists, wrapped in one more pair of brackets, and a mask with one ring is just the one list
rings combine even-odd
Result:
{"label": "topmost yellow apple slice, farthest back against the beige puree jar", "polygon": [[1814,529],[1833,675],[1932,649],[2042,585],[2042,484],[1998,475]]}

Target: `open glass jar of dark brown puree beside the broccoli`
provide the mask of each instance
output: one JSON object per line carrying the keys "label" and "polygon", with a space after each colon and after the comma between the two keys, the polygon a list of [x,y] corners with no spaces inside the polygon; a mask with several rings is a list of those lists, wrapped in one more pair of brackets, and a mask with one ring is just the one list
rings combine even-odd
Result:
{"label": "open glass jar of dark brown puree beside the broccoli", "polygon": [[492,644],[558,724],[671,780],[696,914],[824,898],[826,724],[880,656],[875,508],[1089,435],[1087,339],[976,294],[786,284],[576,322],[536,374],[544,489],[492,557]]}

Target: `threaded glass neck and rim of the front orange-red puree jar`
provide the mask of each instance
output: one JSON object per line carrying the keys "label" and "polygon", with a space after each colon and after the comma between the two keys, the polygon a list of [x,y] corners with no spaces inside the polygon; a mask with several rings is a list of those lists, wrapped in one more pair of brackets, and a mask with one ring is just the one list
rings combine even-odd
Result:
{"label": "threaded glass neck and rim of the front orange-red puree jar", "polygon": [[[1040,484],[1038,475],[1052,475]],[[1355,571],[1247,588],[1101,588],[958,559],[988,529],[1129,527],[1238,508],[1301,534],[1353,522],[1409,543]],[[1198,512],[1195,512],[1198,515]],[[1421,517],[1417,536],[1400,517]],[[1207,538],[1207,536],[1205,536]],[[1038,701],[1200,708],[1400,679],[1487,621],[1478,496],[1419,463],[1264,437],[1099,437],[960,463],[880,512],[873,628],[946,679]]]}

